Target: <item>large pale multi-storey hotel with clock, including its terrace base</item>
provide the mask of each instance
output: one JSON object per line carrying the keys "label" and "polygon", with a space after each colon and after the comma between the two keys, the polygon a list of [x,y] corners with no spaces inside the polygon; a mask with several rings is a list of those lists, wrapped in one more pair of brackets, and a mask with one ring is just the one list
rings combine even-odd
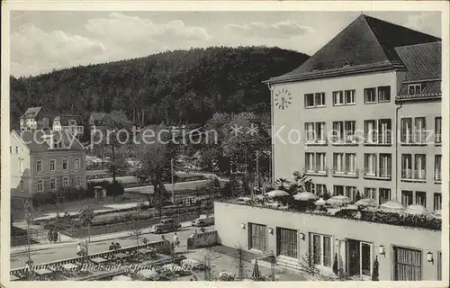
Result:
{"label": "large pale multi-storey hotel with clock, including its terrace base", "polygon": [[[361,14],[302,66],[269,79],[273,178],[300,171],[316,194],[441,210],[441,49],[437,37]],[[223,245],[272,250],[280,266],[298,268],[313,251],[324,271],[336,255],[360,280],[374,263],[380,280],[442,279],[440,230],[233,202],[216,202],[215,214]]]}

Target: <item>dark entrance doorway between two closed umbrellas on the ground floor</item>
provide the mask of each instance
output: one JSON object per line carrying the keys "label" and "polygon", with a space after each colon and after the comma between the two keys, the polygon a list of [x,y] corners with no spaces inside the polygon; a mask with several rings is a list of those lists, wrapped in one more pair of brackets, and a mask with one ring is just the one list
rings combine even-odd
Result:
{"label": "dark entrance doorway between two closed umbrellas on the ground floor", "polygon": [[372,244],[354,239],[348,239],[347,243],[348,274],[372,275]]}

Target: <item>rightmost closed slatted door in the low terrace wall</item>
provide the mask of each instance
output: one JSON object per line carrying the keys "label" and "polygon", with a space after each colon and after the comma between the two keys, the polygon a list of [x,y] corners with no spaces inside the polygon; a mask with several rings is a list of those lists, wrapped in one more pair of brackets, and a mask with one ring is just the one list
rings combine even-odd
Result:
{"label": "rightmost closed slatted door in the low terrace wall", "polygon": [[422,253],[416,249],[393,247],[394,280],[422,280]]}

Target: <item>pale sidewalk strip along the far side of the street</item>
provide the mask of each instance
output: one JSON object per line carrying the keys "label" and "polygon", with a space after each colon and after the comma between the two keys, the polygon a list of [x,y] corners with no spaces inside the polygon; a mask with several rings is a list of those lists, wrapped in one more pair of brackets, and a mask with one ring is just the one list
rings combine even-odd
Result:
{"label": "pale sidewalk strip along the far side of the street", "polygon": [[[191,227],[191,221],[181,222],[181,228],[186,228],[186,227]],[[90,243],[102,242],[102,241],[111,240],[111,239],[129,238],[129,237],[131,237],[130,234],[132,232],[133,232],[133,230],[128,230],[128,231],[121,231],[121,232],[91,236]],[[150,233],[150,228],[142,229],[142,234],[149,234],[149,233]],[[77,241],[78,241],[78,238],[70,238],[66,235],[61,234],[61,241],[59,241],[58,243],[34,244],[34,245],[31,245],[31,251],[34,252],[34,251],[40,251],[40,250],[47,250],[49,248],[54,248],[54,247],[66,247],[71,244],[76,244]],[[11,247],[10,253],[11,253],[11,255],[20,254],[20,253],[27,251],[27,249],[28,249],[27,246]]]}

